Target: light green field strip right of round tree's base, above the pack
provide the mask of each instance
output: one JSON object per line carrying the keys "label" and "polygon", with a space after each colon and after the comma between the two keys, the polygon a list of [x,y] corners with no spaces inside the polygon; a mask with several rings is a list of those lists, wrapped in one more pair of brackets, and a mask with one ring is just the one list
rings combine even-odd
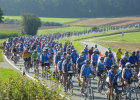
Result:
{"label": "light green field strip right of round tree's base, above the pack", "polygon": [[78,26],[71,26],[71,27],[64,27],[64,28],[55,28],[55,29],[43,29],[38,30],[38,35],[41,34],[52,34],[52,33],[63,33],[63,32],[74,32],[74,31],[84,31],[89,30],[92,27],[78,27]]}

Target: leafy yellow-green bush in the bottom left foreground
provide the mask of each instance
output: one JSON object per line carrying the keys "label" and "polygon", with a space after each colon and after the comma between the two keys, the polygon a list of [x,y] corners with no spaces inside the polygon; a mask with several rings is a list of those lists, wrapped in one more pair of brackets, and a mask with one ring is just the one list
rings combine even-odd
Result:
{"label": "leafy yellow-green bush in the bottom left foreground", "polygon": [[40,82],[34,83],[25,77],[12,76],[5,83],[0,81],[1,100],[62,100],[56,86],[47,88]]}

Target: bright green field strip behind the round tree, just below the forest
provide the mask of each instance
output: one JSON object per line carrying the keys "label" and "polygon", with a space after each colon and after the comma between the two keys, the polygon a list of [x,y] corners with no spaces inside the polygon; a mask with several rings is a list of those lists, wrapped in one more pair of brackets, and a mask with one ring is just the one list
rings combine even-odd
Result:
{"label": "bright green field strip behind the round tree, just below the forest", "polygon": [[[21,20],[20,16],[4,16],[4,19],[16,19]],[[76,20],[80,20],[79,18],[48,18],[48,17],[40,17],[42,22],[55,22],[55,23],[68,23]]]}

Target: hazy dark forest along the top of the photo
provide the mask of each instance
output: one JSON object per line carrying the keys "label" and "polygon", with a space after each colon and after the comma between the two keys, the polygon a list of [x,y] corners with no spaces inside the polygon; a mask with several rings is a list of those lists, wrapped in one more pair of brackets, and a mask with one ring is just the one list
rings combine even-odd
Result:
{"label": "hazy dark forest along the top of the photo", "polygon": [[116,17],[140,15],[140,0],[0,0],[5,15]]}

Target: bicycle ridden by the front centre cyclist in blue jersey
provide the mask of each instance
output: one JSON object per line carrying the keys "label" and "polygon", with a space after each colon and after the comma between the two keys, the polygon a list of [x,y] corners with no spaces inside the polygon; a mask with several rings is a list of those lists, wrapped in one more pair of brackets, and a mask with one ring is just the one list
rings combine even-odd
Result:
{"label": "bicycle ridden by the front centre cyclist in blue jersey", "polygon": [[92,75],[85,78],[85,81],[88,81],[85,84],[84,94],[83,94],[85,100],[87,99],[94,100],[93,88],[91,87],[91,78],[93,78]]}

